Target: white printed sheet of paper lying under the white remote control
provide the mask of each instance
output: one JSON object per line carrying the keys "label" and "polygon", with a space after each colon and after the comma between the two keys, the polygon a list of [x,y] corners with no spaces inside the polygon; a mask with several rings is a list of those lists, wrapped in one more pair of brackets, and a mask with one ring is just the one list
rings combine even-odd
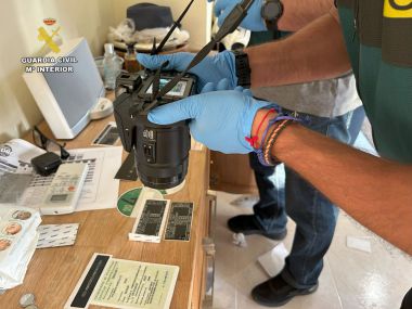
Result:
{"label": "white printed sheet of paper lying under the white remote control", "polygon": [[[67,162],[89,165],[76,211],[116,207],[119,180],[114,176],[121,164],[121,152],[123,147],[119,146],[69,150]],[[53,175],[36,175],[20,204],[38,208],[52,179]]]}

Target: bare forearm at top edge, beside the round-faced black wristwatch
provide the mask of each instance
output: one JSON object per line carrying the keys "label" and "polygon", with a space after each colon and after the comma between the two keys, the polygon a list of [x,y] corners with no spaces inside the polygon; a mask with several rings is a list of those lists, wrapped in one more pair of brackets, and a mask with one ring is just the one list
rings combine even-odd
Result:
{"label": "bare forearm at top edge, beside the round-faced black wristwatch", "polygon": [[282,0],[283,14],[278,22],[280,30],[297,31],[310,22],[326,14],[332,5],[332,0]]}

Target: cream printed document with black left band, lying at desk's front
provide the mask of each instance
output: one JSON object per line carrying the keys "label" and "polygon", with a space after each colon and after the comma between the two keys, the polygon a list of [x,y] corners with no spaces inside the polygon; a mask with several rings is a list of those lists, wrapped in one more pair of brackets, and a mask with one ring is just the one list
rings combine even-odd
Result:
{"label": "cream printed document with black left band, lying at desk's front", "polygon": [[93,254],[65,309],[87,309],[90,305],[125,309],[170,307],[179,267],[124,260]]}

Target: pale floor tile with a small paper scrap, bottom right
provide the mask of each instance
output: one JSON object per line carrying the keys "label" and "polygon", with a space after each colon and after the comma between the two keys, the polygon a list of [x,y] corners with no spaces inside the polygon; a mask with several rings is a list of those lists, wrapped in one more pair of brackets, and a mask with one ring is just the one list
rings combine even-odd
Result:
{"label": "pale floor tile with a small paper scrap, bottom right", "polygon": [[[372,253],[346,246],[346,236],[366,236]],[[344,308],[399,308],[412,286],[412,259],[376,236],[346,214],[339,216],[335,237],[327,253]]]}

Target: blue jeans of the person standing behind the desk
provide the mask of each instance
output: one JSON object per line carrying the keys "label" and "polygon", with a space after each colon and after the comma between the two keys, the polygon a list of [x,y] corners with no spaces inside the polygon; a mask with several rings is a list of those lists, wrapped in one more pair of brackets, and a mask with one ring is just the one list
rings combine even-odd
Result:
{"label": "blue jeans of the person standing behind the desk", "polygon": [[[363,107],[334,118],[300,114],[308,120],[304,126],[326,137],[353,144],[363,119]],[[299,145],[296,145],[299,146]],[[259,202],[254,206],[256,222],[267,233],[281,232],[286,227],[286,214],[296,222],[296,232],[282,278],[292,286],[308,288],[318,283],[336,227],[338,209],[322,193],[298,173],[285,166],[285,185],[276,188],[271,181],[273,167],[259,164],[255,153],[249,155],[259,190]],[[302,157],[307,160],[308,158]],[[282,201],[284,198],[284,201]]]}

